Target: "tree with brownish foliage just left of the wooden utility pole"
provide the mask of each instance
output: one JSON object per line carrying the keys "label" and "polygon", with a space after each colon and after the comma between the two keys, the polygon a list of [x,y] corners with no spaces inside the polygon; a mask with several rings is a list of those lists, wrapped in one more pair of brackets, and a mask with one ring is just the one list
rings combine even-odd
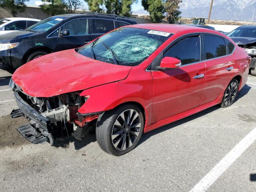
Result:
{"label": "tree with brownish foliage just left of the wooden utility pole", "polygon": [[180,3],[182,3],[182,0],[166,0],[164,3],[164,7],[167,13],[167,23],[174,24],[174,22],[178,21],[180,18]]}

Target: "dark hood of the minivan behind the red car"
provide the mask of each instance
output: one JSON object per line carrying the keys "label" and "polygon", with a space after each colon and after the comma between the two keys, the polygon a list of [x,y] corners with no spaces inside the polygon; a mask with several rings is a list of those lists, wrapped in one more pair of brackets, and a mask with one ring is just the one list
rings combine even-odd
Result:
{"label": "dark hood of the minivan behind the red car", "polygon": [[0,43],[19,43],[22,39],[30,36],[37,35],[39,33],[30,31],[13,31],[6,34],[0,34]]}

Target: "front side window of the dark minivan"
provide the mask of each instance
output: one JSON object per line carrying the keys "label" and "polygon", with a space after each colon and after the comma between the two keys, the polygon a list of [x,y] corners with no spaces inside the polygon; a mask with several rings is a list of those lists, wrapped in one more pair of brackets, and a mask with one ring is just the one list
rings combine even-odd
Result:
{"label": "front side window of the dark minivan", "polygon": [[88,34],[88,22],[87,19],[76,19],[64,24],[60,31],[63,29],[69,30],[69,35],[86,35]]}

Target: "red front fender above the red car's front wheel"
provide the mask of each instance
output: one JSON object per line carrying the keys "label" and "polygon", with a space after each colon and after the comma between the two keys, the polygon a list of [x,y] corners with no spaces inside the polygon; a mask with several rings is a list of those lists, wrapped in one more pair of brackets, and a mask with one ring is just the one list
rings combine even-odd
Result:
{"label": "red front fender above the red car's front wheel", "polygon": [[153,78],[150,72],[140,73],[141,68],[132,68],[128,77],[118,82],[112,82],[84,90],[80,96],[88,100],[79,108],[80,114],[103,112],[111,110],[126,102],[137,102],[144,108],[146,126],[150,124],[153,97]]}

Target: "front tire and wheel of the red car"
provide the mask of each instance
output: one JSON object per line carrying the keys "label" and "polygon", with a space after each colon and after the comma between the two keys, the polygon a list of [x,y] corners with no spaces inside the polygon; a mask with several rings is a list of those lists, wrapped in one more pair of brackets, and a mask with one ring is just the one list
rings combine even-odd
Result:
{"label": "front tire and wheel of the red car", "polygon": [[[128,120],[129,114],[132,114],[130,120]],[[108,154],[115,156],[126,154],[140,142],[144,124],[144,115],[138,106],[134,104],[119,106],[99,116],[96,124],[97,142]]]}

